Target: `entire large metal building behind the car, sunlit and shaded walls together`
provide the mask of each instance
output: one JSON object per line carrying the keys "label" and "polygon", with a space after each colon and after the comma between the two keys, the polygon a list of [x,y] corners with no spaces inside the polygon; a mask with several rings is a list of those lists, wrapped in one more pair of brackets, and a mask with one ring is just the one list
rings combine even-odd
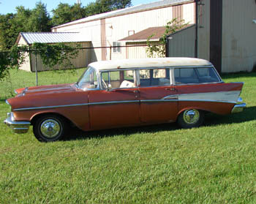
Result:
{"label": "entire large metal building behind the car, sunlit and shaded walls together", "polygon": [[[145,58],[147,37],[156,34],[151,41],[157,43],[173,18],[190,26],[167,37],[167,56],[204,58],[219,72],[256,68],[255,0],[162,0],[75,20],[52,32],[77,32],[90,43],[93,49],[82,61]],[[124,45],[130,47],[119,47]]]}

